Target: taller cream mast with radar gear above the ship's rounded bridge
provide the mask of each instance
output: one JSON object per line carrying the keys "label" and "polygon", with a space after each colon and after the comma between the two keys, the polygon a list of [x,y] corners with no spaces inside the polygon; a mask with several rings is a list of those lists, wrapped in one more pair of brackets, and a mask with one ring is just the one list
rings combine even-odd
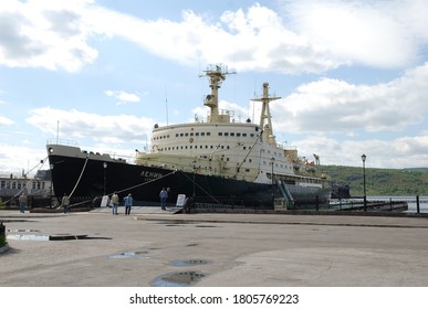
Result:
{"label": "taller cream mast with radar gear above the ship's rounded bridge", "polygon": [[199,77],[207,76],[209,77],[209,87],[211,88],[211,94],[207,95],[203,100],[203,105],[208,106],[211,109],[209,122],[218,122],[219,117],[219,88],[221,83],[226,79],[226,76],[229,74],[236,74],[236,72],[228,72],[227,68],[221,68],[219,65],[216,65],[213,68],[208,68],[203,71],[205,75],[199,75]]}

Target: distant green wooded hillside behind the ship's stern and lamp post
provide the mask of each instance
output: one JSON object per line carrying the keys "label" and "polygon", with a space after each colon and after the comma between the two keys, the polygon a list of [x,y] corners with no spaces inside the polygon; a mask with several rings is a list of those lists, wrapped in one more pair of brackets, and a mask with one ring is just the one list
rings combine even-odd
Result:
{"label": "distant green wooded hillside behind the ship's stern and lamp post", "polygon": [[[363,167],[319,166],[334,183],[348,184],[351,195],[363,195]],[[366,168],[367,195],[428,195],[428,169]]]}

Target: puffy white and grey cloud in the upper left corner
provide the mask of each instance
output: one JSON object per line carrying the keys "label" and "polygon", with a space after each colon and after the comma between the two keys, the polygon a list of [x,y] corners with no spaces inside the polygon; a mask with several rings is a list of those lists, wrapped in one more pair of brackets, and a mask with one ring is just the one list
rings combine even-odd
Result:
{"label": "puffy white and grey cloud in the upper left corner", "polygon": [[96,58],[81,19],[92,1],[6,2],[0,7],[0,64],[76,72]]}

